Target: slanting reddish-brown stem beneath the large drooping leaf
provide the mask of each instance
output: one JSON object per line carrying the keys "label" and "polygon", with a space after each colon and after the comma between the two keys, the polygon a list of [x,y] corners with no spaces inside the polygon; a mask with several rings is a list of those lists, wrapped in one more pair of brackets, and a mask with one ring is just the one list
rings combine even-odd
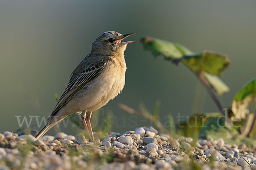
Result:
{"label": "slanting reddish-brown stem beneath the large drooping leaf", "polygon": [[197,75],[198,79],[201,81],[201,83],[204,84],[205,88],[209,92],[210,96],[212,97],[212,100],[217,105],[221,114],[225,116],[225,111],[224,111],[223,104],[221,103],[221,100],[218,98],[218,95],[216,94],[216,92],[210,86],[209,82],[204,78],[204,76],[202,74],[199,73],[199,74],[196,74],[196,75]]}

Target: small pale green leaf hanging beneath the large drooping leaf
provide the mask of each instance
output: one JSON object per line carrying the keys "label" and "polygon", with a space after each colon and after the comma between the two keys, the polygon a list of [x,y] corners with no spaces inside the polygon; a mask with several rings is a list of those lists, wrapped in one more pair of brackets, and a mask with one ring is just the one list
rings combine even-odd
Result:
{"label": "small pale green leaf hanging beneath the large drooping leaf", "polygon": [[218,95],[223,95],[230,91],[229,87],[218,76],[208,74],[207,72],[203,72],[202,75],[204,75],[204,78],[207,79]]}

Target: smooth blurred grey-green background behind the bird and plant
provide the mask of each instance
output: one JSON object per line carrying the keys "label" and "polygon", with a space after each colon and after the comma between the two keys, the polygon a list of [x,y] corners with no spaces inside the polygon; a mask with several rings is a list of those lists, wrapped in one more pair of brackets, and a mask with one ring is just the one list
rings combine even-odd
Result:
{"label": "smooth blurred grey-green background behind the bird and plant", "polygon": [[[151,36],[194,52],[228,54],[231,66],[221,77],[230,87],[221,97],[228,107],[241,86],[255,77],[255,6],[253,0],[1,0],[0,133],[18,129],[17,115],[50,115],[54,93],[62,94],[70,73],[90,53],[90,44],[106,31],[137,33],[128,40]],[[150,125],[123,113],[118,103],[137,109],[143,101],[152,110],[160,100],[163,123],[168,115],[218,111],[182,64],[154,59],[140,43],[128,45],[125,59],[125,88],[103,108],[115,115],[113,131]]]}

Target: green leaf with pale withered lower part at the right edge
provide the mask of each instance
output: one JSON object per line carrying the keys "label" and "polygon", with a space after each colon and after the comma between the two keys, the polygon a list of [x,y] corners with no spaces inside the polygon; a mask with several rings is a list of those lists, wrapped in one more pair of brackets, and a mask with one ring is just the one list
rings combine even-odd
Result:
{"label": "green leaf with pale withered lower part at the right edge", "polygon": [[232,112],[244,119],[250,113],[248,107],[252,104],[256,104],[256,79],[251,80],[236,93],[232,102]]}

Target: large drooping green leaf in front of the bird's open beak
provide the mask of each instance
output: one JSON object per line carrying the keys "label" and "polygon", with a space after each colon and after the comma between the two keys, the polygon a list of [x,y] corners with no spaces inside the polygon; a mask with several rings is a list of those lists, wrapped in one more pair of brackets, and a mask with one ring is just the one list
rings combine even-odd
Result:
{"label": "large drooping green leaf in front of the bird's open beak", "polygon": [[144,37],[141,39],[145,49],[157,55],[163,55],[165,59],[182,61],[189,69],[196,73],[207,72],[211,75],[221,75],[230,64],[227,55],[216,52],[203,52],[196,54],[185,46],[157,38]]}

